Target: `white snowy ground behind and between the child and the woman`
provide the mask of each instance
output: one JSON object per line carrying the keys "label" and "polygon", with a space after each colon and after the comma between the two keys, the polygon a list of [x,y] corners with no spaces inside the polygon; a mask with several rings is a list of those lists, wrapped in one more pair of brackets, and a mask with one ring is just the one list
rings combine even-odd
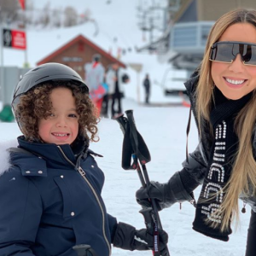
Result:
{"label": "white snowy ground behind and between the child and the woman", "polygon": [[[174,172],[181,170],[185,159],[186,125],[189,108],[153,108],[137,105],[127,100],[123,102],[124,109],[133,109],[137,129],[143,135],[151,154],[148,163],[148,174],[151,180],[166,182]],[[0,143],[13,140],[20,135],[15,123],[0,123]],[[119,124],[112,119],[102,119],[99,124],[99,143],[91,143],[91,147],[104,157],[98,158],[98,164],[105,172],[106,183],[103,188],[103,198],[108,212],[126,222],[143,228],[143,216],[138,212],[140,206],[135,200],[135,192],[140,187],[136,171],[124,171],[121,168],[121,149],[123,135]],[[197,131],[192,121],[189,134],[189,151],[197,143]],[[195,190],[195,197],[200,194],[201,187]],[[192,230],[195,208],[189,202],[160,212],[164,229],[169,234],[168,247],[172,256],[242,256],[245,252],[247,226],[250,209],[241,214],[240,228],[230,236],[230,241],[213,240]],[[234,230],[234,229],[233,229]],[[113,248],[113,256],[152,255],[150,252],[129,252]]]}

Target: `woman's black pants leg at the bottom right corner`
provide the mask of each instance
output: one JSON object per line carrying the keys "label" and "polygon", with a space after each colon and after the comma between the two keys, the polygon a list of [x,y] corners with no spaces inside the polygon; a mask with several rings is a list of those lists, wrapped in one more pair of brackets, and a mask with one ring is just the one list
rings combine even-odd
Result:
{"label": "woman's black pants leg at the bottom right corner", "polygon": [[252,211],[247,234],[247,252],[245,256],[256,255],[256,213]]}

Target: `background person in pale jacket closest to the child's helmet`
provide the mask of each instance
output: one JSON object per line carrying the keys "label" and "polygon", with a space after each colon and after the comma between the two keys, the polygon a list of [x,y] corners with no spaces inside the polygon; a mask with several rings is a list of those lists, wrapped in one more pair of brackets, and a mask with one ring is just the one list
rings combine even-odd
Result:
{"label": "background person in pale jacket closest to the child's helmet", "polygon": [[98,114],[101,113],[103,96],[106,94],[105,88],[102,86],[104,82],[105,68],[101,63],[102,56],[99,54],[93,55],[92,61],[84,65],[84,81],[90,90],[90,97]]}

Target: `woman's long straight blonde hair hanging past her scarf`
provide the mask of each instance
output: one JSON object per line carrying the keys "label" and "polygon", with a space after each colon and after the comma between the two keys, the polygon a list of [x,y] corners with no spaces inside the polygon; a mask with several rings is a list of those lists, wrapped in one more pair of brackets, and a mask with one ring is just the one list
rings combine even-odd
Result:
{"label": "woman's long straight blonde hair hanging past her scarf", "polygon": [[[207,39],[207,46],[201,67],[199,70],[200,79],[196,89],[196,111],[199,120],[199,127],[206,119],[209,121],[212,105],[211,61],[209,61],[211,46],[222,36],[224,31],[236,23],[250,23],[255,26],[256,31],[256,10],[235,9],[220,17]],[[241,193],[249,196],[255,194],[256,188],[256,162],[253,157],[252,135],[256,121],[256,92],[253,91],[252,98],[247,105],[241,109],[235,120],[236,134],[238,136],[239,148],[236,152],[234,166],[231,172],[230,181],[224,187],[224,201],[218,212],[223,218],[221,230],[227,230],[230,219],[239,219],[238,198]],[[212,129],[212,127],[211,127]],[[200,130],[201,132],[201,130]],[[252,184],[252,186],[249,184]],[[253,189],[252,189],[252,188]],[[237,223],[237,222],[236,222]]]}

